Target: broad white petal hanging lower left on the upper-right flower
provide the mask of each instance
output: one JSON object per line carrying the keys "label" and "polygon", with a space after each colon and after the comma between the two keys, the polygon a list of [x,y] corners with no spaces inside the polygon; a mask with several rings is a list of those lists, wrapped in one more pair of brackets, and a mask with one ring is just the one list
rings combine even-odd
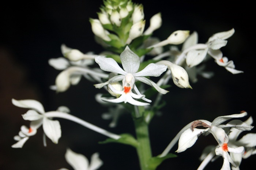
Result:
{"label": "broad white petal hanging lower left on the upper-right flower", "polygon": [[187,58],[186,58],[186,63],[188,67],[194,67],[202,63],[202,61],[206,57],[207,51],[208,51],[208,48],[204,50],[190,50],[187,53]]}

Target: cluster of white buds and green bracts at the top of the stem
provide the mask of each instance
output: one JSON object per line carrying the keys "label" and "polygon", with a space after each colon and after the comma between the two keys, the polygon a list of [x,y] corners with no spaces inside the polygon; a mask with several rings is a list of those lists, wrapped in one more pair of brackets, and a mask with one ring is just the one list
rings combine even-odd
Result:
{"label": "cluster of white buds and green bracts at the top of the stem", "polygon": [[[121,53],[125,46],[138,49],[143,41],[151,36],[143,35],[145,20],[142,4],[131,0],[105,0],[98,12],[98,19],[90,18],[95,40],[109,51]],[[151,49],[142,49],[142,56]]]}

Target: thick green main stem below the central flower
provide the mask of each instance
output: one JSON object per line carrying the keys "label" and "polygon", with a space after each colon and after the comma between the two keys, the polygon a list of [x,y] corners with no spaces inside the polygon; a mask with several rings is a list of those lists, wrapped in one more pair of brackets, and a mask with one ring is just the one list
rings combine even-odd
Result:
{"label": "thick green main stem below the central flower", "polygon": [[135,119],[134,123],[138,141],[137,154],[139,156],[140,169],[150,170],[148,168],[148,161],[152,157],[152,153],[148,134],[148,124],[144,121],[143,116]]}

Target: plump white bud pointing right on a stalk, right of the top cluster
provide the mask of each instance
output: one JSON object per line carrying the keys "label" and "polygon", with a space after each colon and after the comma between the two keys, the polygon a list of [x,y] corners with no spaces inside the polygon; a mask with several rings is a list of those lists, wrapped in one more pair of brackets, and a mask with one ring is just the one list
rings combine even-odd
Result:
{"label": "plump white bud pointing right on a stalk, right of the top cluster", "polygon": [[169,44],[178,45],[183,43],[189,36],[189,31],[174,31],[167,40],[169,41]]}

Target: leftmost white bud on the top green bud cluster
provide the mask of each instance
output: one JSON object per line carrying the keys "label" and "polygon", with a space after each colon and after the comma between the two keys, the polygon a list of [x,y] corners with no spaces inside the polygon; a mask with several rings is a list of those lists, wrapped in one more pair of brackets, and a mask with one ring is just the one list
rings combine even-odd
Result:
{"label": "leftmost white bud on the top green bud cluster", "polygon": [[108,32],[102,27],[101,22],[98,19],[90,19],[91,29],[95,35],[104,39],[105,41],[111,41],[108,37]]}

